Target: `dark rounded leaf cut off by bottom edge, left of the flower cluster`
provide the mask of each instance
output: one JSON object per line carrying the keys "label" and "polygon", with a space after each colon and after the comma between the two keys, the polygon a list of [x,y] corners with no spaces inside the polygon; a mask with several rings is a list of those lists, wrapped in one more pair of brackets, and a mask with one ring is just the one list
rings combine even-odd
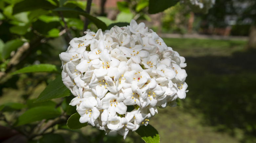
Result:
{"label": "dark rounded leaf cut off by bottom edge, left of the flower cluster", "polygon": [[40,143],[64,143],[64,138],[59,134],[44,134],[42,138],[39,139]]}

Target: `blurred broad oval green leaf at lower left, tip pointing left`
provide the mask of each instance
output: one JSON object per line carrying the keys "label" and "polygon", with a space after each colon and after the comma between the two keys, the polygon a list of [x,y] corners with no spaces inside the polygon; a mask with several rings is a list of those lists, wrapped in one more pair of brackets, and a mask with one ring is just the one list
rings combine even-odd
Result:
{"label": "blurred broad oval green leaf at lower left, tip pointing left", "polygon": [[54,107],[38,106],[25,111],[14,123],[14,126],[20,126],[42,119],[52,119],[60,115],[61,111],[55,109]]}

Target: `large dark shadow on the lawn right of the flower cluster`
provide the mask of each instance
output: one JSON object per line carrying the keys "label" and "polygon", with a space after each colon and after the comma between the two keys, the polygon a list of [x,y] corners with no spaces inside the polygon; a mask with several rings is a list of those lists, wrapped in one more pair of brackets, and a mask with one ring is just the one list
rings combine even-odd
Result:
{"label": "large dark shadow on the lawn right of the flower cluster", "polygon": [[[203,124],[256,141],[256,51],[230,57],[186,57],[189,92],[184,109],[203,113]],[[195,113],[196,114],[196,113]]]}

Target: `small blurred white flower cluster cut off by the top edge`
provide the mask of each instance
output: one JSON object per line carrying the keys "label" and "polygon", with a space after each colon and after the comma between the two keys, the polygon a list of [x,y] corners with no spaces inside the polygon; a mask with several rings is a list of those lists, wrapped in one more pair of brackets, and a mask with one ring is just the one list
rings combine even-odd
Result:
{"label": "small blurred white flower cluster cut off by the top edge", "polygon": [[194,12],[207,13],[215,4],[215,0],[189,0],[189,6]]}

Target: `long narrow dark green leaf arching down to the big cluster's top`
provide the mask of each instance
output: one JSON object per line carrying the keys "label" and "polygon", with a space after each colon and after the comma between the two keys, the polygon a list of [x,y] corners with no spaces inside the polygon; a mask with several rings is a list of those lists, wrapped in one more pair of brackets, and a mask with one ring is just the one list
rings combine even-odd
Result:
{"label": "long narrow dark green leaf arching down to the big cluster's top", "polygon": [[107,25],[100,21],[99,19],[97,19],[94,16],[91,16],[90,14],[88,14],[87,12],[85,12],[84,10],[82,10],[81,8],[55,8],[53,9],[53,11],[69,11],[69,12],[73,12],[74,14],[80,14],[85,16],[86,18],[88,18],[89,20],[91,20],[98,28],[100,28],[102,31],[107,30]]}

